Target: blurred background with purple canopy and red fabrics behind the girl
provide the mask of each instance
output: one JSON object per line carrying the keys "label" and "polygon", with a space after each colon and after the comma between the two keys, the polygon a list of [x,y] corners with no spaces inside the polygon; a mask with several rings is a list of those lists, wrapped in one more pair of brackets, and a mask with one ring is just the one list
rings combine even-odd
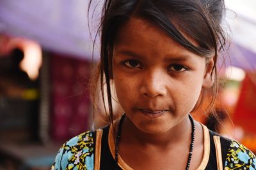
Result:
{"label": "blurred background with purple canopy and red fabrics behind the girl", "polygon": [[[193,115],[256,153],[256,1],[225,3],[232,33],[219,63],[221,124],[204,110]],[[89,19],[91,36],[87,8],[88,0],[0,1],[0,170],[50,169],[63,142],[91,129],[99,13]]]}

